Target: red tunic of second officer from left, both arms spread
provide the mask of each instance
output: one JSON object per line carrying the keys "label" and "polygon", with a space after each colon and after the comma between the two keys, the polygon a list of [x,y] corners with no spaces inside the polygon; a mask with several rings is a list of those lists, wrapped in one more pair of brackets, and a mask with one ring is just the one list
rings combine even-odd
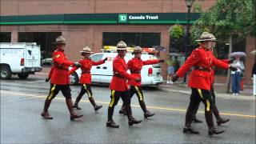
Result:
{"label": "red tunic of second officer from left, both arms spread", "polygon": [[[94,62],[90,58],[82,58],[79,63],[81,64],[81,70],[82,70],[82,75],[79,80],[79,83],[81,84],[91,84],[91,74],[90,74],[90,69],[91,66],[98,66],[104,63],[104,60]],[[73,67],[70,70],[70,74],[72,74],[75,70],[78,70],[78,67]]]}

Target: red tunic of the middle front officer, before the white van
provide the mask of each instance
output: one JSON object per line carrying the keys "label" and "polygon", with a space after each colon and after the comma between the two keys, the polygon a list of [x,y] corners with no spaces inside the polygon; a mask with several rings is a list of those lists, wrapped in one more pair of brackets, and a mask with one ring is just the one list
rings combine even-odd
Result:
{"label": "red tunic of the middle front officer, before the white van", "polygon": [[128,74],[126,66],[126,61],[124,58],[117,56],[113,61],[113,78],[110,83],[110,90],[117,91],[127,91],[128,85],[126,83],[127,79],[135,79],[133,75]]}

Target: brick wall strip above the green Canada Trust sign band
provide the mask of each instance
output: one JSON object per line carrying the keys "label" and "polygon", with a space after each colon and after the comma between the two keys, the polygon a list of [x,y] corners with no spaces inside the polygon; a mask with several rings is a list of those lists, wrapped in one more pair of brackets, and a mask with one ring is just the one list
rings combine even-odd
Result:
{"label": "brick wall strip above the green Canada Trust sign band", "polygon": [[[216,0],[198,0],[203,10]],[[1,0],[1,15],[186,12],[184,0]]]}

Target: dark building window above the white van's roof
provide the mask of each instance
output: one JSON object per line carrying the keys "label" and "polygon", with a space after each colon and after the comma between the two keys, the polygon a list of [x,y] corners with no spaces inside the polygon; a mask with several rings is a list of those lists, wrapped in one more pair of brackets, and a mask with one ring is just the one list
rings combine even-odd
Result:
{"label": "dark building window above the white van's roof", "polygon": [[116,46],[119,41],[126,42],[127,46],[152,47],[159,46],[160,33],[112,33],[104,32],[103,46]]}

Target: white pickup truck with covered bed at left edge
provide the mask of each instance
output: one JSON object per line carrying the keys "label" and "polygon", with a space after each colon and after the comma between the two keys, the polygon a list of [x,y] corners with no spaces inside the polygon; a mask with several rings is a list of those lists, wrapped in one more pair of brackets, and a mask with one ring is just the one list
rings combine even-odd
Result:
{"label": "white pickup truck with covered bed at left edge", "polygon": [[9,79],[12,74],[26,79],[29,74],[42,70],[40,46],[35,42],[0,42],[0,54],[2,79]]}

